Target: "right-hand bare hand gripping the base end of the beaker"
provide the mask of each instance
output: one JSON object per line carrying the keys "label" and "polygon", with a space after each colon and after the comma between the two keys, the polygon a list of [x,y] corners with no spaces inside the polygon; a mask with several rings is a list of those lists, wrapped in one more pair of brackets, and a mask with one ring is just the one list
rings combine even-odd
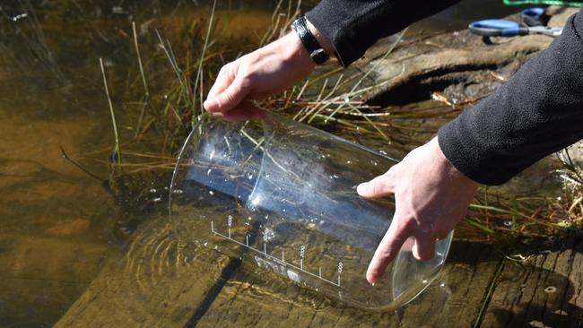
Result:
{"label": "right-hand bare hand gripping the base end of the beaker", "polygon": [[447,237],[466,215],[477,187],[449,163],[437,137],[411,151],[384,175],[359,185],[362,197],[395,194],[396,201],[393,221],[370,261],[367,280],[379,280],[409,237],[414,237],[413,256],[431,260],[436,240]]}

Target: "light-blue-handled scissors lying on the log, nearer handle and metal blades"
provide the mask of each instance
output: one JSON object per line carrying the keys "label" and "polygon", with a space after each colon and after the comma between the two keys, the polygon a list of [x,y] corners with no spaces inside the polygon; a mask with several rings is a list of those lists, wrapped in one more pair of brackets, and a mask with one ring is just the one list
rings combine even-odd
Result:
{"label": "light-blue-handled scissors lying on the log, nearer handle and metal blades", "polygon": [[469,26],[470,31],[484,37],[514,37],[526,34],[544,34],[557,38],[562,34],[561,28],[548,26],[521,26],[518,22],[507,20],[483,20],[473,22]]}

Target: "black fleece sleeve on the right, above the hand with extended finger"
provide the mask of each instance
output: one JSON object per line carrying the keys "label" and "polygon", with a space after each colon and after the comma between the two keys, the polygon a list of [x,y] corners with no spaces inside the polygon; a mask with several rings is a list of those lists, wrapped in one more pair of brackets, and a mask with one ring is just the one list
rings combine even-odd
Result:
{"label": "black fleece sleeve on the right, above the hand with extended finger", "polygon": [[441,150],[467,177],[500,185],[583,138],[582,11],[509,82],[439,129]]}

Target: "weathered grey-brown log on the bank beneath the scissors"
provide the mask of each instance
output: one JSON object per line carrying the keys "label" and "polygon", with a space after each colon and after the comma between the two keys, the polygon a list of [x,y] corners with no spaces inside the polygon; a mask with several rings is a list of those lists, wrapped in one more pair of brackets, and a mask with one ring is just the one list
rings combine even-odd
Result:
{"label": "weathered grey-brown log on the bank beneath the scissors", "polygon": [[[563,26],[577,9],[553,7],[549,12],[553,14],[549,26]],[[420,39],[363,67],[372,69],[376,82],[386,82],[365,99],[372,105],[399,105],[429,99],[431,91],[444,92],[452,103],[479,99],[507,81],[520,65],[552,41],[547,36],[528,35],[492,38],[493,43],[487,44],[469,30]],[[380,56],[387,47],[381,44],[373,51],[374,56]]]}

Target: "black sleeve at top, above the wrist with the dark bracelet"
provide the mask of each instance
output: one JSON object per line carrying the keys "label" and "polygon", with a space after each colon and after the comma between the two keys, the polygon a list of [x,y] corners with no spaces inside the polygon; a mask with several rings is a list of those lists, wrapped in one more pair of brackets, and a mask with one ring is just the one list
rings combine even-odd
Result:
{"label": "black sleeve at top, above the wrist with the dark bracelet", "polygon": [[378,39],[459,0],[323,0],[306,17],[332,41],[344,66],[359,59]]}

